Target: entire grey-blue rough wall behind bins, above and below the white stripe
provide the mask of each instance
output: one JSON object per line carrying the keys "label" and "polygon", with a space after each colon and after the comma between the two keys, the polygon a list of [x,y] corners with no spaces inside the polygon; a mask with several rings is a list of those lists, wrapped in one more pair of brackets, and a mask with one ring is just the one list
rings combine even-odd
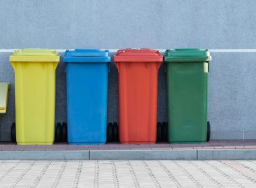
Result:
{"label": "entire grey-blue rough wall behind bins, above and below the white stripe", "polygon": [[[0,0],[0,49],[256,48],[254,0]],[[2,52],[1,52],[2,51]],[[15,120],[14,75],[0,50],[0,81],[11,83],[0,140]],[[256,138],[256,52],[212,52],[209,112],[212,139]],[[166,78],[158,76],[158,121],[166,121]],[[56,122],[66,122],[63,62],[57,68]],[[111,66],[108,121],[118,122],[117,69]]]}

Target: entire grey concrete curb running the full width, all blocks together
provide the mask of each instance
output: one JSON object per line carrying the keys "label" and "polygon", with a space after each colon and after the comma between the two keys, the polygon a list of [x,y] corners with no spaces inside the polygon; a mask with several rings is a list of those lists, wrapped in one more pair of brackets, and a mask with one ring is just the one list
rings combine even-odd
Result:
{"label": "entire grey concrete curb running the full width, all blocks together", "polygon": [[0,151],[0,160],[256,160],[256,149]]}

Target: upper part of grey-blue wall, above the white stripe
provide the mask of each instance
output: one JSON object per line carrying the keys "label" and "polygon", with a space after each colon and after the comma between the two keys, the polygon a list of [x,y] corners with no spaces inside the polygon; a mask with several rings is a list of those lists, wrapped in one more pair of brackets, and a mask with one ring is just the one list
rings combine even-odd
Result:
{"label": "upper part of grey-blue wall, above the white stripe", "polygon": [[0,0],[0,48],[255,48],[255,0]]}

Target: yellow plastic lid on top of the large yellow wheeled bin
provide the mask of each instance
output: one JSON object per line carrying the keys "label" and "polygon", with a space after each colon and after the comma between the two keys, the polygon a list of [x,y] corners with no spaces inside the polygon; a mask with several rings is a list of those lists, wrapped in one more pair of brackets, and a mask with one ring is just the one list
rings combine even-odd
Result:
{"label": "yellow plastic lid on top of the large yellow wheeled bin", "polygon": [[11,62],[59,62],[58,52],[49,49],[14,50],[9,56]]}

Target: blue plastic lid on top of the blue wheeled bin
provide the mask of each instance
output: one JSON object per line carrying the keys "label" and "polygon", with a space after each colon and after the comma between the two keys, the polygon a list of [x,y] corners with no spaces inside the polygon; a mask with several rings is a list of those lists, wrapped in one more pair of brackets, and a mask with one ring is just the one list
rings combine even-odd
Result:
{"label": "blue plastic lid on top of the blue wheeled bin", "polygon": [[108,50],[75,49],[66,50],[64,62],[110,62]]}

